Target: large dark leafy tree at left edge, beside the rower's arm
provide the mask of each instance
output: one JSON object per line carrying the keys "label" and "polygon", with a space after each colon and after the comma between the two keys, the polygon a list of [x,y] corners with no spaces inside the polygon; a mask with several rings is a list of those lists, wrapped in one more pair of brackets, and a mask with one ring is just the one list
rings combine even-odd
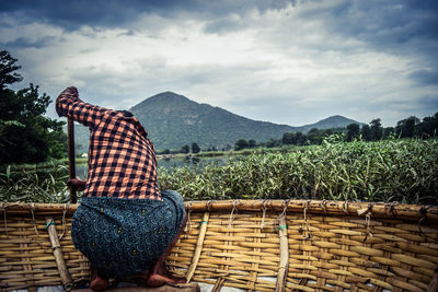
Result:
{"label": "large dark leafy tree at left edge, beside the rower's arm", "polygon": [[0,164],[35,163],[66,154],[64,121],[44,116],[50,97],[38,93],[38,86],[14,92],[7,87],[22,80],[20,69],[8,51],[0,51]]}

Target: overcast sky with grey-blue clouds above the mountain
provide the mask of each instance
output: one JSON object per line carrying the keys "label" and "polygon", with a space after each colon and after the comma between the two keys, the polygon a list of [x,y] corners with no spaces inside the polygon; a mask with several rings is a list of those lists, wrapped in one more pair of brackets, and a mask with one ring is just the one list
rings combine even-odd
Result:
{"label": "overcast sky with grey-blue clouds above the mountain", "polygon": [[173,91],[291,126],[438,112],[436,0],[0,1],[0,49],[18,87],[117,109]]}

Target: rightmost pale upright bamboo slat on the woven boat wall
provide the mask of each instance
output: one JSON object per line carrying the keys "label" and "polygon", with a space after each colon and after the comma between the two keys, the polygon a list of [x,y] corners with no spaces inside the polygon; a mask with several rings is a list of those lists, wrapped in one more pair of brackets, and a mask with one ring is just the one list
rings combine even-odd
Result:
{"label": "rightmost pale upright bamboo slat on the woven boat wall", "polygon": [[281,215],[278,222],[278,235],[280,237],[280,266],[278,268],[275,291],[286,291],[286,277],[289,268],[289,242],[287,237],[286,217]]}

